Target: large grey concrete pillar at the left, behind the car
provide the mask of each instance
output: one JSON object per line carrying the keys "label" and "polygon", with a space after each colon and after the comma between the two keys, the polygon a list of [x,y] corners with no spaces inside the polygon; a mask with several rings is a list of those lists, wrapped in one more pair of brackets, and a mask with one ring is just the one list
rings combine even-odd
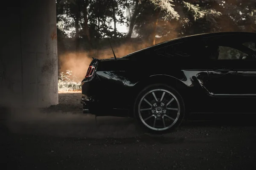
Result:
{"label": "large grey concrete pillar at the left, behind the car", "polygon": [[55,0],[8,3],[0,9],[0,106],[57,105]]}

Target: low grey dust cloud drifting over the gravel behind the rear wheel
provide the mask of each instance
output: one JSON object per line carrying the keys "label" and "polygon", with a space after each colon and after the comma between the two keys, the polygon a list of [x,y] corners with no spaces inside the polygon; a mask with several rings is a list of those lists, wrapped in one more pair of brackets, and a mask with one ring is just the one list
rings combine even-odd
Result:
{"label": "low grey dust cloud drifting over the gravel behind the rear wheel", "polygon": [[97,117],[76,112],[44,112],[39,109],[12,108],[7,111],[10,132],[32,135],[79,138],[127,138],[140,135],[130,118]]}

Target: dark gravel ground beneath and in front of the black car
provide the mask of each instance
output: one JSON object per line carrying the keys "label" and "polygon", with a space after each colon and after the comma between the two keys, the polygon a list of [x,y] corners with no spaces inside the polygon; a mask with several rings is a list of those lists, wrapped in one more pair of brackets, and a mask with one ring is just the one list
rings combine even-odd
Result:
{"label": "dark gravel ground beneath and in front of the black car", "polygon": [[96,122],[81,113],[80,97],[59,93],[59,105],[44,110],[1,110],[3,169],[256,170],[254,115],[190,120],[174,133],[151,136],[133,119]]}

